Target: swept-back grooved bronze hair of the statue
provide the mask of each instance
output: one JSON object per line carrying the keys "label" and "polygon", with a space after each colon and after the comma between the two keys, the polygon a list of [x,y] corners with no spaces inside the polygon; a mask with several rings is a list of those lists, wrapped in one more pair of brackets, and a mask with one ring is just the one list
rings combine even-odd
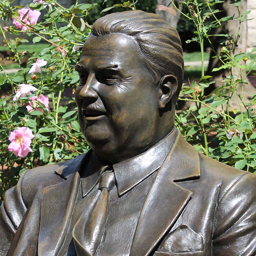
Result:
{"label": "swept-back grooved bronze hair of the statue", "polygon": [[135,39],[148,62],[149,71],[158,80],[164,75],[174,75],[178,80],[178,97],[183,82],[184,61],[180,37],[175,28],[157,14],[143,11],[108,14],[92,25],[94,36],[112,33]]}

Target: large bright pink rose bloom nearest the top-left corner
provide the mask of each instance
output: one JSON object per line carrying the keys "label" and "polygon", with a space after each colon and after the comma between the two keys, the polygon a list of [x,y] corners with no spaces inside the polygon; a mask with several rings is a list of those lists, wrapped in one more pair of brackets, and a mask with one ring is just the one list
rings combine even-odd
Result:
{"label": "large bright pink rose bloom nearest the top-left corner", "polygon": [[[31,10],[30,8],[21,8],[18,10],[18,13],[20,14],[19,17],[17,17],[18,19],[22,20],[24,23],[26,23],[27,25],[35,25],[37,23],[37,20],[39,18],[39,16],[41,15],[41,12],[37,11],[37,10]],[[24,16],[27,13],[26,16]],[[19,21],[15,20],[13,18],[13,24],[15,25],[16,28],[21,28],[21,30],[27,30],[27,28],[20,23]]]}

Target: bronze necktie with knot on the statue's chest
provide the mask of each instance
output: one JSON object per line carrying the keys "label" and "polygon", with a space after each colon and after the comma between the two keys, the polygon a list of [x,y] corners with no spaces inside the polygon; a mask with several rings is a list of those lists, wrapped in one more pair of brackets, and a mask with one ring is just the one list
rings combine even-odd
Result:
{"label": "bronze necktie with knot on the statue's chest", "polygon": [[113,171],[104,171],[100,177],[99,196],[91,214],[83,213],[73,229],[72,235],[78,256],[95,255],[106,226],[109,191],[114,186]]}

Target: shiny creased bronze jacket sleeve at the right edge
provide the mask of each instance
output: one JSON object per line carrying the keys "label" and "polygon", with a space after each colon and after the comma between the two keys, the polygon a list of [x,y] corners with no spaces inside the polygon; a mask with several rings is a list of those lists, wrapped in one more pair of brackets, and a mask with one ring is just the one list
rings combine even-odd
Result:
{"label": "shiny creased bronze jacket sleeve at the right edge", "polygon": [[256,255],[255,174],[244,174],[218,203],[212,246],[213,256]]}

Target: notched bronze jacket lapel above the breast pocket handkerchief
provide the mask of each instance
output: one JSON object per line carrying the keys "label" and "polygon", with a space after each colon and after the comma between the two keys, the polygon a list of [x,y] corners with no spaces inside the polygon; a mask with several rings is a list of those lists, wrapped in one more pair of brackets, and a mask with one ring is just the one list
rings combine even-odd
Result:
{"label": "notched bronze jacket lapel above the breast pocket handkerchief", "polygon": [[198,152],[178,131],[145,199],[130,256],[149,255],[184,210],[192,192],[175,182],[199,177]]}

